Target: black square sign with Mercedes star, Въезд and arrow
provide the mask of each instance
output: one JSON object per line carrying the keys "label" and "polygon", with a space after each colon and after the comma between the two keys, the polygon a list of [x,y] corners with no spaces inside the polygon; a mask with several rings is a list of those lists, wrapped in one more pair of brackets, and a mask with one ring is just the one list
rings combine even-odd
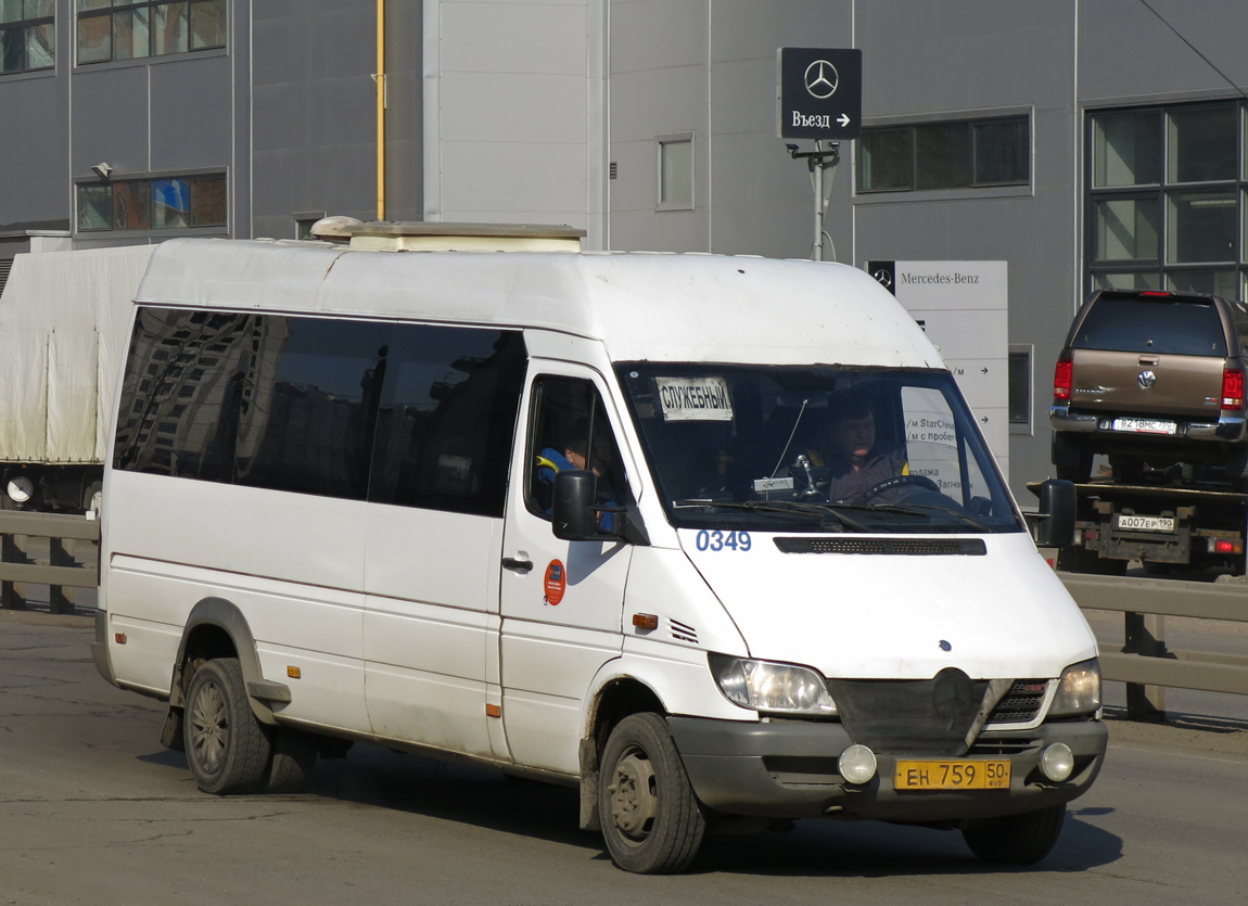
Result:
{"label": "black square sign with Mercedes star, \u0412\u044a\u0435\u0437\u0434 and arrow", "polygon": [[781,139],[857,139],[862,134],[862,51],[780,47],[776,100]]}

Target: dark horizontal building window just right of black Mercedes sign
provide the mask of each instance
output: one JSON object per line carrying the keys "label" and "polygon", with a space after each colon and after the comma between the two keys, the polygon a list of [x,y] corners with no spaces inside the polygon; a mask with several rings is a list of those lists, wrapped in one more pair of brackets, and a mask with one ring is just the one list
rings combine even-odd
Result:
{"label": "dark horizontal building window just right of black Mercedes sign", "polygon": [[859,192],[1016,186],[1030,180],[1026,116],[864,129],[859,140]]}

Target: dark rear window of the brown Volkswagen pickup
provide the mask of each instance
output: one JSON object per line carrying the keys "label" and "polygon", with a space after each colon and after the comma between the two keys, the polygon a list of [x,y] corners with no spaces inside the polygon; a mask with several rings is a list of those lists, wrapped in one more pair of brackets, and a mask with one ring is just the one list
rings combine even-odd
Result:
{"label": "dark rear window of the brown Volkswagen pickup", "polygon": [[1098,298],[1080,326],[1076,349],[1226,356],[1222,318],[1209,303]]}

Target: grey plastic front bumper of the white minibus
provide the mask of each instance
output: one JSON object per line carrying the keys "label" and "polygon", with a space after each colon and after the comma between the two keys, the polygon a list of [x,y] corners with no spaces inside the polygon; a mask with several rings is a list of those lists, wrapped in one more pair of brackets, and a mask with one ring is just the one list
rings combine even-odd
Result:
{"label": "grey plastic front bumper of the white minibus", "polygon": [[[1008,790],[897,791],[894,772],[905,753],[876,753],[879,769],[862,785],[837,772],[854,740],[835,723],[744,723],[669,718],[668,725],[698,799],[729,815],[847,817],[884,821],[960,821],[1061,805],[1082,795],[1104,762],[1108,731],[1099,721],[1042,724],[1033,730],[986,730],[963,757],[1008,759]],[[1070,780],[1040,774],[1051,743],[1075,754]]]}

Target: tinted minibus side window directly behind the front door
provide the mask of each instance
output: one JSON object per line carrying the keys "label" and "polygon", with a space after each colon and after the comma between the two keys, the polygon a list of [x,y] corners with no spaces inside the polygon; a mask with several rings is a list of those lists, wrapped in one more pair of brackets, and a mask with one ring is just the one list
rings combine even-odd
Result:
{"label": "tinted minibus side window directly behind the front door", "polygon": [[368,499],[500,517],[525,362],[517,331],[393,326]]}

